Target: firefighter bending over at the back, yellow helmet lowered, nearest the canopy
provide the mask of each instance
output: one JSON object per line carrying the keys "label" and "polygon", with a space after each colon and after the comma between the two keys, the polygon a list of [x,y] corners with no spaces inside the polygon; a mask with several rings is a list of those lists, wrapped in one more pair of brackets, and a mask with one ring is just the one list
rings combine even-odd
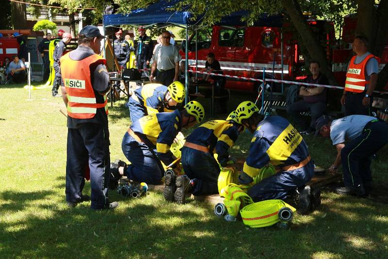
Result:
{"label": "firefighter bending over at the back, yellow helmet lowered, nearest the canopy", "polygon": [[172,112],[185,99],[184,85],[175,81],[168,87],[159,83],[149,83],[137,89],[129,98],[129,116],[132,123],[153,113]]}

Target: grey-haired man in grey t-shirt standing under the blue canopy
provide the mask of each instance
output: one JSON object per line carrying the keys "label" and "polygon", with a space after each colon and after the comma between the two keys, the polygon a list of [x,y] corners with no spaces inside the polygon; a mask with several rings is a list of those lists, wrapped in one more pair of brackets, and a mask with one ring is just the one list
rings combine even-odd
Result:
{"label": "grey-haired man in grey t-shirt standing under the blue canopy", "polygon": [[162,44],[157,46],[152,58],[151,76],[149,79],[162,85],[170,85],[178,81],[179,61],[181,60],[179,50],[170,44],[171,34],[168,31],[162,32]]}

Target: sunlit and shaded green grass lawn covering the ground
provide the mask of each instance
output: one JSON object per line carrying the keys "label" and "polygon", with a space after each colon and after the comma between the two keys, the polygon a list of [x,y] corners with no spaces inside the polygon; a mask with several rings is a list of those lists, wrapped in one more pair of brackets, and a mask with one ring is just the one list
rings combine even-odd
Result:
{"label": "sunlit and shaded green grass lawn covering the ground", "polygon": [[[88,203],[65,206],[66,119],[61,98],[50,89],[0,86],[0,258],[387,258],[388,208],[369,199],[324,189],[320,210],[296,215],[290,230],[246,228],[213,215],[193,201],[167,203],[151,192],[120,201],[114,211]],[[229,106],[244,97],[236,96]],[[129,126],[124,101],[110,109],[111,159],[123,159],[121,140]],[[205,108],[208,108],[207,102]],[[187,133],[187,132],[186,132]],[[314,161],[335,157],[329,140],[306,138]],[[231,153],[247,154],[243,133]],[[387,186],[383,154],[373,162],[375,182]],[[90,192],[86,183],[85,193]]]}

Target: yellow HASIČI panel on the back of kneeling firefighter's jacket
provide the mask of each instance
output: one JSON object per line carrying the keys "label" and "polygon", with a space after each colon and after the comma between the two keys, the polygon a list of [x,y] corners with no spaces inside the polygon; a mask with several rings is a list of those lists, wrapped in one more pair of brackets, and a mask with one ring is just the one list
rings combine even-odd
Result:
{"label": "yellow HASI\u010cI panel on the back of kneeling firefighter's jacket", "polygon": [[276,166],[286,161],[302,140],[300,133],[289,124],[267,150],[271,163]]}

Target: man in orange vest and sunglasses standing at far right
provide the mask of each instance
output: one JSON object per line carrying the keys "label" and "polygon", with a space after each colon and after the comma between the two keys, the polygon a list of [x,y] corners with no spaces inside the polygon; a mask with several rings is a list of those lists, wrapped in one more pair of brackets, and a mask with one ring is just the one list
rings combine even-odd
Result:
{"label": "man in orange vest and sunglasses standing at far right", "polygon": [[357,55],[349,62],[341,104],[345,105],[345,116],[371,116],[372,94],[376,87],[379,62],[368,52],[368,40],[364,36],[356,36],[353,51]]}

